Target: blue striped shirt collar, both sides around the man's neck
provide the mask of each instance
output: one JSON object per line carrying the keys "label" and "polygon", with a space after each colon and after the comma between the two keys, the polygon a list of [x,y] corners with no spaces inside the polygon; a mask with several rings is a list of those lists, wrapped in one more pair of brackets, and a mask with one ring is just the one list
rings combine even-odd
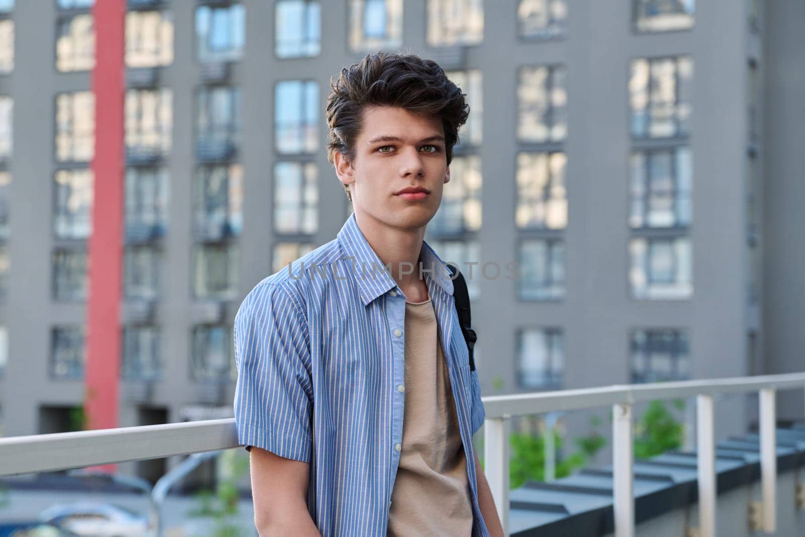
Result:
{"label": "blue striped shirt collar, both sides around the man's neck", "polygon": [[[337,237],[345,257],[351,258],[350,267],[364,306],[397,287],[397,283],[386,271],[378,254],[375,254],[369,242],[366,242],[355,220],[355,213],[349,215]],[[448,295],[452,295],[453,284],[448,266],[425,241],[422,242],[422,250],[419,252],[419,262],[422,263],[426,283],[432,280]],[[430,289],[430,286],[428,288]]]}

